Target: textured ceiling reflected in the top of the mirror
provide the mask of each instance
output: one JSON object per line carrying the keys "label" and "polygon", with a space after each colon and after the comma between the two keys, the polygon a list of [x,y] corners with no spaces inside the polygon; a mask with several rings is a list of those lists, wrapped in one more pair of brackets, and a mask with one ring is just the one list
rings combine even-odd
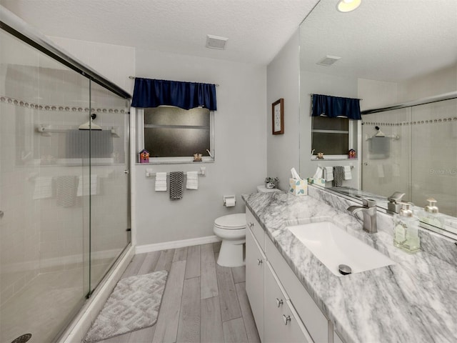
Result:
{"label": "textured ceiling reflected in the top of the mirror", "polygon": [[[347,14],[334,6],[321,0],[303,22],[302,69],[398,82],[457,64],[457,0],[362,0]],[[341,59],[316,65],[326,55]]]}

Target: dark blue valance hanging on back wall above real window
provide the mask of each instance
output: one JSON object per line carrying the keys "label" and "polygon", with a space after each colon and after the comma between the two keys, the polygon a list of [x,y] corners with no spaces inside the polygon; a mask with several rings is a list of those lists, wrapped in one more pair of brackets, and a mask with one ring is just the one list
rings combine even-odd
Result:
{"label": "dark blue valance hanging on back wall above real window", "polygon": [[216,85],[136,77],[131,106],[146,108],[161,105],[181,109],[203,106],[216,111]]}

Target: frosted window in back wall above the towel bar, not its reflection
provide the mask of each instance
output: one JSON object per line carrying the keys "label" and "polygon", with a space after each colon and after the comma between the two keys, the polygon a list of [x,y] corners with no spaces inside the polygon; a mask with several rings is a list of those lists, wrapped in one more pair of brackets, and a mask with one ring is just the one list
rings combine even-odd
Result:
{"label": "frosted window in back wall above the towel bar, not its reflection", "polygon": [[196,153],[203,154],[204,161],[213,160],[207,149],[214,156],[214,112],[204,108],[186,110],[175,106],[139,111],[143,127],[139,150],[143,146],[149,151],[149,161],[191,162]]}

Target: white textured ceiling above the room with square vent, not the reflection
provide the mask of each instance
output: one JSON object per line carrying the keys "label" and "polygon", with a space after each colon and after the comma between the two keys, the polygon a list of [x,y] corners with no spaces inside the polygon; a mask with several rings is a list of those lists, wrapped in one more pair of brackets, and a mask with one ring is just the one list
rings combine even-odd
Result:
{"label": "white textured ceiling above the room with square vent, not the reflection", "polygon": [[[317,2],[0,0],[47,36],[254,64],[268,64]],[[207,34],[228,38],[226,50],[207,49]]]}

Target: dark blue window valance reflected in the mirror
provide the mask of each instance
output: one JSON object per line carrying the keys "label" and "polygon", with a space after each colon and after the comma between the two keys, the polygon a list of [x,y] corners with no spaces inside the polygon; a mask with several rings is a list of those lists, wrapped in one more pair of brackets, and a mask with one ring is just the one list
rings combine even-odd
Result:
{"label": "dark blue window valance reflected in the mirror", "polygon": [[313,94],[311,115],[320,116],[321,114],[329,118],[346,116],[349,119],[361,120],[360,99]]}

